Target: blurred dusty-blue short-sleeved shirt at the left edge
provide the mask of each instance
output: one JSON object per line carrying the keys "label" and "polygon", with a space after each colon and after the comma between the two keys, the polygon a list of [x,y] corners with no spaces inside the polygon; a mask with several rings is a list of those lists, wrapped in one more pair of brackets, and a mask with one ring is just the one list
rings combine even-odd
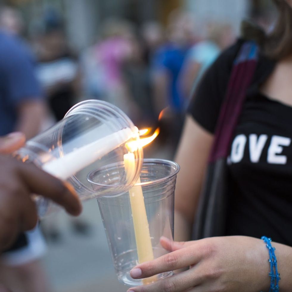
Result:
{"label": "blurred dusty-blue short-sleeved shirt at the left edge", "polygon": [[0,136],[15,130],[22,102],[42,98],[28,47],[21,39],[0,31]]}

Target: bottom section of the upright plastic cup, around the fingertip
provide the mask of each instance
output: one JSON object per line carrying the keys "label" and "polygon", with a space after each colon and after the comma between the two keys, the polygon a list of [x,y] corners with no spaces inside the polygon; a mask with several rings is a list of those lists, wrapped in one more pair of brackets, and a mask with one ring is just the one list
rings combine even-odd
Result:
{"label": "bottom section of the upright plastic cup, around the fingertip", "polygon": [[[154,254],[160,256],[162,254],[165,254],[165,250],[163,248],[153,248]],[[123,254],[120,254],[116,261],[115,261],[115,266],[118,267],[116,268],[116,273],[119,282],[130,286],[130,287],[135,287],[135,286],[142,286],[146,284],[150,284],[152,282],[155,282],[157,280],[164,279],[166,277],[170,277],[173,275],[173,272],[165,272],[158,274],[154,277],[150,277],[149,279],[133,279],[130,275],[130,271],[132,268],[134,268],[138,262],[135,260],[137,258],[137,250],[133,249],[130,251],[126,251]],[[148,281],[147,281],[148,280]]]}

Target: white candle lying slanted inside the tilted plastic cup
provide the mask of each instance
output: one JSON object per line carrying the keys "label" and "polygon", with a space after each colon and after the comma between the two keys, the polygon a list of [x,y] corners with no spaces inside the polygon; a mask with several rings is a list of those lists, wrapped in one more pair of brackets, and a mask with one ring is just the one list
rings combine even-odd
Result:
{"label": "white candle lying slanted inside the tilted plastic cup", "polygon": [[43,170],[61,179],[67,179],[72,174],[93,163],[133,137],[130,128],[125,128],[108,136],[80,147],[64,156],[49,161],[43,165]]}

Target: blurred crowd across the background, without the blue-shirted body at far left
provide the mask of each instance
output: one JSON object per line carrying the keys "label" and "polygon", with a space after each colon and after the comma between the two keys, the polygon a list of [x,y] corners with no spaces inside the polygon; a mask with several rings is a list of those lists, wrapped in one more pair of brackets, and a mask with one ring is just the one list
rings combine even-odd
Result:
{"label": "blurred crowd across the background, without the blue-shirted body at far left", "polygon": [[42,28],[30,39],[22,38],[24,22],[17,10],[2,7],[0,22],[1,31],[20,38],[34,62],[48,107],[44,126],[85,99],[117,105],[137,126],[156,123],[164,108],[182,114],[197,81],[235,37],[228,23],[208,22],[199,30],[192,14],[175,10],[166,27],[106,19],[96,42],[77,53],[54,10],[44,14]]}

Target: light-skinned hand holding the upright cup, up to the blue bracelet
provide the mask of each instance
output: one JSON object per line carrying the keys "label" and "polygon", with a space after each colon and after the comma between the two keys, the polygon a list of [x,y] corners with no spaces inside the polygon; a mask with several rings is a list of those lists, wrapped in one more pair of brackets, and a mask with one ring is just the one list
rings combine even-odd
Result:
{"label": "light-skinned hand holding the upright cup, up to the blue bracelet", "polygon": [[141,279],[190,267],[189,270],[128,292],[259,292],[268,291],[270,265],[262,240],[245,236],[212,237],[190,242],[161,238],[171,251],[151,262],[137,265],[131,277]]}

